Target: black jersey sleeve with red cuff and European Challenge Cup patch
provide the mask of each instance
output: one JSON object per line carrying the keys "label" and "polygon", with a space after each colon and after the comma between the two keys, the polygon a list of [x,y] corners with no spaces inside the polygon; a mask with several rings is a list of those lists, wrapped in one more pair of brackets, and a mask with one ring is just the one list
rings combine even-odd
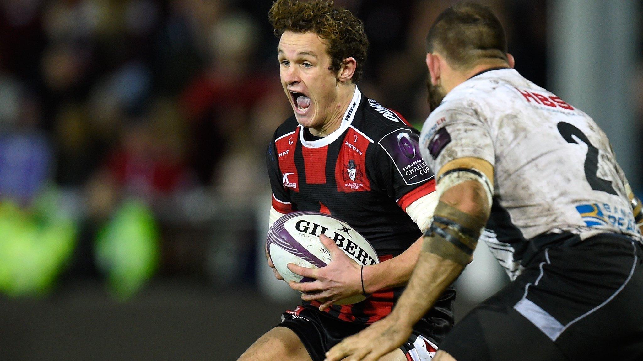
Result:
{"label": "black jersey sleeve with red cuff and European Challenge Cup patch", "polygon": [[388,129],[374,147],[373,178],[404,211],[419,198],[435,191],[433,173],[420,154],[417,130],[410,127]]}

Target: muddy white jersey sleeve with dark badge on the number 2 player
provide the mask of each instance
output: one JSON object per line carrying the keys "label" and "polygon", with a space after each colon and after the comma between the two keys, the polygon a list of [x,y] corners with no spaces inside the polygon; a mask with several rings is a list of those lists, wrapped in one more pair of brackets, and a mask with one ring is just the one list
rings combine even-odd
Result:
{"label": "muddy white jersey sleeve with dark badge on the number 2 player", "polygon": [[437,173],[444,164],[462,157],[476,157],[494,165],[493,139],[480,106],[453,101],[443,104],[426,119],[421,133],[421,153]]}

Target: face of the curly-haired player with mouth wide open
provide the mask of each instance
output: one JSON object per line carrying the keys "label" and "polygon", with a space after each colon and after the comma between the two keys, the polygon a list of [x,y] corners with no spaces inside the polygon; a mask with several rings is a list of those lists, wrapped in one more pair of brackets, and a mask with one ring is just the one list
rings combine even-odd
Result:
{"label": "face of the curly-haired player with mouth wide open", "polygon": [[338,80],[329,68],[331,56],[316,33],[285,31],[278,47],[279,74],[297,122],[318,128],[334,114]]}

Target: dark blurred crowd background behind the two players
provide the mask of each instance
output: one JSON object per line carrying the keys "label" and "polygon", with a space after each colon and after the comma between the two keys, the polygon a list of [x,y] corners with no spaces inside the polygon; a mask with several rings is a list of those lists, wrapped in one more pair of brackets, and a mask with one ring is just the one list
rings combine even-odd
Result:
{"label": "dark blurred crowd background behind the two players", "polygon": [[[0,1],[1,359],[234,360],[294,306],[260,248],[264,152],[292,114],[271,3]],[[335,3],[365,21],[360,89],[420,127],[424,37],[452,2]],[[485,3],[518,71],[547,87],[546,1]]]}

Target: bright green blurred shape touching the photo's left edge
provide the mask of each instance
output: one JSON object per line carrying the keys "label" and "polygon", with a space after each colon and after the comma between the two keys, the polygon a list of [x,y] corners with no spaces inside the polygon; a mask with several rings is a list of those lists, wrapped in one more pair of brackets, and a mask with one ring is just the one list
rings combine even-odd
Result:
{"label": "bright green blurred shape touching the photo's left edge", "polygon": [[76,226],[48,210],[51,200],[33,210],[9,200],[0,202],[0,292],[14,297],[44,295],[69,260]]}

